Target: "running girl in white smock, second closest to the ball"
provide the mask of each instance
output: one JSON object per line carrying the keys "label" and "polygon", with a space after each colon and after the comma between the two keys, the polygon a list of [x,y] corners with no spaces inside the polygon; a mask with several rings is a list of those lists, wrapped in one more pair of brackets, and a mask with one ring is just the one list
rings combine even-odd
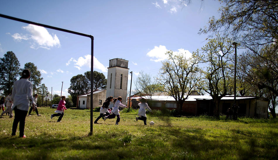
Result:
{"label": "running girl in white smock, second closest to the ball", "polygon": [[118,97],[117,99],[114,98],[113,100],[113,104],[114,104],[114,108],[112,109],[112,114],[110,114],[109,116],[104,116],[104,121],[108,118],[108,119],[112,119],[112,118],[115,118],[117,116],[117,120],[116,120],[116,124],[115,125],[119,125],[119,122],[120,122],[120,113],[119,113],[119,107],[122,107],[122,108],[127,108],[126,105],[122,104],[121,103],[122,101],[122,97]]}

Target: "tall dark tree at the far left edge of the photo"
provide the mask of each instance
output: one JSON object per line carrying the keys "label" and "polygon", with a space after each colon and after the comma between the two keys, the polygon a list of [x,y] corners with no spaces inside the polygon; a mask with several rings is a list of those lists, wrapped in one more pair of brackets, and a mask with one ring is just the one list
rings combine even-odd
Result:
{"label": "tall dark tree at the far left edge of the photo", "polygon": [[7,96],[11,93],[13,83],[20,74],[20,63],[12,51],[8,51],[3,58],[0,58],[0,70],[0,90],[3,90],[4,95]]}

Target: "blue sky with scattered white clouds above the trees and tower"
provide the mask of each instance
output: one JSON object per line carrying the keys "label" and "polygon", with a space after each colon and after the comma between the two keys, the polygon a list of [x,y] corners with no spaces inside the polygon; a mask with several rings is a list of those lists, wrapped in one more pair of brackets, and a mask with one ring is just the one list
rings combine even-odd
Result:
{"label": "blue sky with scattered white clouds above the trees and tower", "polygon": [[[218,17],[218,1],[2,1],[0,13],[94,36],[94,70],[107,77],[109,59],[129,61],[133,84],[140,71],[156,76],[167,50],[190,55],[206,43],[198,35],[209,17]],[[68,95],[70,79],[90,70],[91,40],[0,18],[0,57],[13,51],[23,68],[32,62],[53,94]],[[128,80],[130,88],[131,75]]]}

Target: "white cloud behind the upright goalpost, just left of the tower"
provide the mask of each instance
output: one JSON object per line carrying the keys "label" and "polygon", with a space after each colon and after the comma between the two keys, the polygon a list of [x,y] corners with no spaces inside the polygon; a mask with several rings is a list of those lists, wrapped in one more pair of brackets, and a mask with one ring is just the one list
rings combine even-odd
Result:
{"label": "white cloud behind the upright goalpost, just left of the tower", "polygon": [[[74,63],[74,67],[78,68],[78,70],[81,70],[81,67],[83,66],[87,66],[89,68],[91,68],[91,55],[87,54],[83,57],[79,57],[78,60],[75,60],[74,58],[71,58],[68,63],[70,61],[75,62]],[[97,58],[95,58],[95,56],[93,57],[93,61],[94,61],[94,69],[99,69],[102,72],[107,72],[107,67],[105,67],[102,63],[100,63]]]}

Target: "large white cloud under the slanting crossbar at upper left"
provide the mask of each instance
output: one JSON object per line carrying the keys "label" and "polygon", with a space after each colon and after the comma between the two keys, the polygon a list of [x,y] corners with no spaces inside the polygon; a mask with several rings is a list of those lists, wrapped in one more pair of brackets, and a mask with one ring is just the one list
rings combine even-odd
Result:
{"label": "large white cloud under the slanting crossbar at upper left", "polygon": [[60,47],[59,38],[56,35],[50,35],[47,29],[37,25],[31,25],[22,27],[27,30],[30,34],[23,35],[19,33],[15,33],[12,37],[15,40],[21,41],[23,40],[32,40],[32,45],[30,48],[38,49],[50,49],[51,47]]}

